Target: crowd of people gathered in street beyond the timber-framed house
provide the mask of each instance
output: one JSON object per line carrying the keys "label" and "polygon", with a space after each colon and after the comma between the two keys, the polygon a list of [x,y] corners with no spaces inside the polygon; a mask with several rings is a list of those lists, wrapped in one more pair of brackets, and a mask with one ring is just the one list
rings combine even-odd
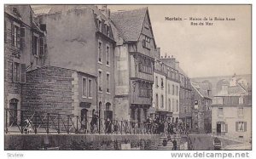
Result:
{"label": "crowd of people gathered in street beyond the timber-framed house", "polygon": [[152,119],[148,116],[146,120],[146,132],[154,134],[188,134],[189,125],[183,122],[171,122],[160,120],[159,117]]}

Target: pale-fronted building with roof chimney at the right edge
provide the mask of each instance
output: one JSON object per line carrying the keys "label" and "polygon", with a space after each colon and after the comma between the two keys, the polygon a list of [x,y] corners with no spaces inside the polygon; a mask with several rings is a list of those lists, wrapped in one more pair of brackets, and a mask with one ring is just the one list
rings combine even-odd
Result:
{"label": "pale-fronted building with roof chimney at the right edge", "polygon": [[212,133],[249,141],[252,137],[252,94],[236,74],[221,84],[212,102]]}

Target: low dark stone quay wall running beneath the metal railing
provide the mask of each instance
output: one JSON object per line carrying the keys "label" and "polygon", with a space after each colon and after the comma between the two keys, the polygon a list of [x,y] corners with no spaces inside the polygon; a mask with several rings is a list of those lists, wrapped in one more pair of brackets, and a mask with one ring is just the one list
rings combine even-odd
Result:
{"label": "low dark stone quay wall running beneath the metal railing", "polygon": [[156,150],[159,135],[148,134],[5,134],[4,150],[121,150],[131,144],[131,150]]}

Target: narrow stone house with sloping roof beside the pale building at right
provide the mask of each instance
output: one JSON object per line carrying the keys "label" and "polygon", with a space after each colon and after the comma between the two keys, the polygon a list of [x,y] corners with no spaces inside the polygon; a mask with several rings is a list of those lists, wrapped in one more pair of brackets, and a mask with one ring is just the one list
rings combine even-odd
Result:
{"label": "narrow stone house with sloping roof beside the pale building at right", "polygon": [[212,133],[212,99],[208,82],[195,83],[192,86],[192,129],[196,133]]}

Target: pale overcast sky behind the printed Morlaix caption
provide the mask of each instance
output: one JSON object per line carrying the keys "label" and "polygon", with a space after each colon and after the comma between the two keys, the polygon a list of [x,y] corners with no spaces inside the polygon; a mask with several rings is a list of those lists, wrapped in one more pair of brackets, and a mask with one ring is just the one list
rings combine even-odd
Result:
{"label": "pale overcast sky behind the printed Morlaix caption", "polygon": [[[249,5],[113,6],[112,11],[148,7],[154,38],[161,55],[173,55],[189,77],[251,73],[251,9]],[[189,20],[166,17],[222,17],[213,26],[190,26]]]}

